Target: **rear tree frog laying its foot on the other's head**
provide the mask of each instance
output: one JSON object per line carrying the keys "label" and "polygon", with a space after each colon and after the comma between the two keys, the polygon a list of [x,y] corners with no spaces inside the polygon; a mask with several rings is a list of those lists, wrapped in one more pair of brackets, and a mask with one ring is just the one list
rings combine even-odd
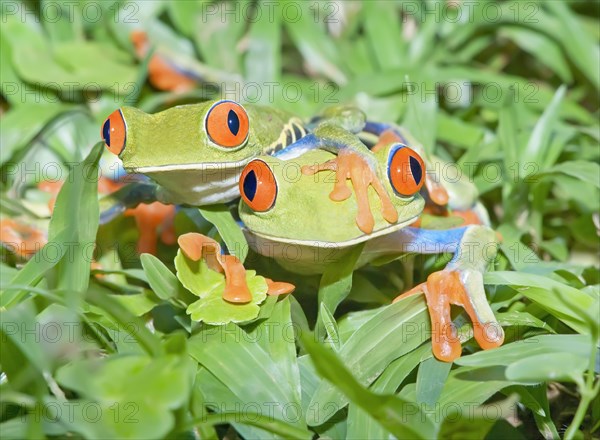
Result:
{"label": "rear tree frog laying its foot on the other's head", "polygon": [[[192,206],[238,198],[240,173],[259,155],[285,152],[290,157],[311,149],[331,151],[337,156],[329,166],[336,164],[338,180],[349,178],[359,194],[373,186],[392,223],[396,213],[382,190],[376,163],[357,135],[364,126],[364,114],[354,108],[335,108],[305,126],[280,110],[218,100],[152,115],[123,107],[105,121],[102,138],[128,172],[144,174],[159,184],[155,195],[142,195],[145,201],[155,196],[164,203]],[[372,215],[369,206],[361,206],[366,212],[357,218],[363,221],[359,227],[368,233]]]}

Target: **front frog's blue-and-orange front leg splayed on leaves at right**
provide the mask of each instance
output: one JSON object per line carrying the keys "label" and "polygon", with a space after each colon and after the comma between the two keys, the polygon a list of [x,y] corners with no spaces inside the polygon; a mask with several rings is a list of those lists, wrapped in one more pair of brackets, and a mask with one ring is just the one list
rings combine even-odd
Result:
{"label": "front frog's blue-and-orange front leg splayed on leaves at right", "polygon": [[450,306],[465,309],[473,323],[475,340],[487,350],[502,345],[504,332],[487,302],[483,273],[496,255],[495,232],[485,226],[468,226],[446,231],[405,228],[398,232],[406,250],[419,253],[453,252],[454,258],[427,281],[398,296],[423,292],[432,326],[435,357],[452,362],[461,355],[461,343],[450,316]]}

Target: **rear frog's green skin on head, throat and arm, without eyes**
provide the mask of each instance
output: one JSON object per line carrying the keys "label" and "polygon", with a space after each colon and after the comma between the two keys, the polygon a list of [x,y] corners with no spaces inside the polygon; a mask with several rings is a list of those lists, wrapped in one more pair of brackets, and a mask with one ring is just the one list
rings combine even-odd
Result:
{"label": "rear frog's green skin on head, throat and arm, without eyes", "polygon": [[[149,176],[159,184],[158,200],[192,206],[224,203],[239,197],[237,182],[244,166],[261,154],[272,154],[302,121],[281,110],[248,104],[247,141],[223,148],[211,141],[205,128],[210,108],[220,100],[181,105],[156,114],[133,107],[121,109],[127,137],[119,155],[128,172]],[[337,152],[351,149],[374,167],[367,147],[355,133],[365,115],[353,107],[329,109],[314,128],[310,148]],[[291,135],[296,140],[296,135]]]}

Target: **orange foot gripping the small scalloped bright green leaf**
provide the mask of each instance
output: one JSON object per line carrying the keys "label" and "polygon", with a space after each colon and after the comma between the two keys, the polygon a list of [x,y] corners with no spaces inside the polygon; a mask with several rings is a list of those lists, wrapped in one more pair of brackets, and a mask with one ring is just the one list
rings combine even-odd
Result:
{"label": "orange foot gripping the small scalloped bright green leaf", "polygon": [[[225,301],[231,303],[252,301],[252,294],[246,283],[246,269],[236,256],[221,254],[219,243],[196,232],[180,235],[177,243],[181,251],[191,260],[198,261],[204,258],[210,269],[225,274],[225,291],[223,292]],[[268,278],[265,280],[269,295],[282,295],[294,291],[294,286],[290,283],[275,282]]]}

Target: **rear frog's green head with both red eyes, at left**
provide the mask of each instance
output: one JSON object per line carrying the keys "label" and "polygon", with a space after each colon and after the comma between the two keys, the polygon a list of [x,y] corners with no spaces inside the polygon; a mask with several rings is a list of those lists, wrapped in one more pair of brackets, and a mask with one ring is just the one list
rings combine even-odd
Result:
{"label": "rear frog's green head with both red eyes, at left", "polygon": [[228,100],[181,105],[152,115],[122,107],[104,122],[102,139],[125,169],[140,173],[242,166],[261,149],[247,111]]}

